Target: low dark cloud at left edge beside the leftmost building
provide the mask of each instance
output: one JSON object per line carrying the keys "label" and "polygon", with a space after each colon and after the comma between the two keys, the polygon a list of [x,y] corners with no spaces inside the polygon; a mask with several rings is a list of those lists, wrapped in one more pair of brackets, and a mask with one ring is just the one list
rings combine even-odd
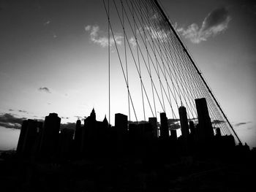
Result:
{"label": "low dark cloud at left edge beside the leftmost building", "polygon": [[20,129],[23,120],[26,120],[26,118],[16,118],[10,113],[5,113],[0,115],[0,126]]}

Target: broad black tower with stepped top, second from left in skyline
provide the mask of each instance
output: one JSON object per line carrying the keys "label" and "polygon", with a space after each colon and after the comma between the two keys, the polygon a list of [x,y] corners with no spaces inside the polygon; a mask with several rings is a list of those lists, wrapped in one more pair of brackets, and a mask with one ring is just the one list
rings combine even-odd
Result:
{"label": "broad black tower with stepped top, second from left in skyline", "polygon": [[58,149],[59,128],[61,118],[56,113],[50,113],[45,117],[45,123],[42,128],[42,137],[39,147],[40,155],[44,157],[54,157]]}

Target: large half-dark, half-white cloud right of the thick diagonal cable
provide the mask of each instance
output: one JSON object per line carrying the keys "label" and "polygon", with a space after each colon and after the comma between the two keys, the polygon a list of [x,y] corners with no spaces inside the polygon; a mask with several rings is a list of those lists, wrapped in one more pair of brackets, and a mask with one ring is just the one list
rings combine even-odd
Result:
{"label": "large half-dark, half-white cloud right of the thick diagonal cable", "polygon": [[203,20],[202,26],[197,26],[196,23],[192,23],[185,28],[177,28],[179,34],[186,39],[190,39],[193,43],[200,43],[206,41],[209,37],[215,37],[217,34],[227,29],[228,23],[231,17],[225,7],[214,9]]}

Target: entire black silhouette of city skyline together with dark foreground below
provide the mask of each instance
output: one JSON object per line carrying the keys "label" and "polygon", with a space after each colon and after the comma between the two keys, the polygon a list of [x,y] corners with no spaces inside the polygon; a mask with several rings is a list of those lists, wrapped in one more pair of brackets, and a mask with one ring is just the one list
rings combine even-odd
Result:
{"label": "entire black silhouette of city skyline together with dark foreground below", "polygon": [[[244,178],[244,173],[252,175],[255,170],[255,148],[236,145],[232,135],[222,136],[220,128],[211,125],[206,99],[195,102],[197,124],[187,119],[185,107],[179,107],[180,137],[176,129],[170,129],[165,112],[160,113],[160,124],[157,118],[128,123],[127,115],[117,113],[115,126],[110,126],[106,118],[98,121],[93,109],[83,125],[77,120],[75,130],[61,129],[61,118],[56,113],[46,116],[43,123],[23,120],[16,152],[1,154],[2,189],[168,191],[178,187],[192,191],[200,188],[244,191],[252,188],[253,177]],[[236,177],[231,176],[230,170]],[[177,177],[183,179],[177,182]],[[232,184],[227,183],[226,177]],[[16,185],[10,186],[10,182]]]}

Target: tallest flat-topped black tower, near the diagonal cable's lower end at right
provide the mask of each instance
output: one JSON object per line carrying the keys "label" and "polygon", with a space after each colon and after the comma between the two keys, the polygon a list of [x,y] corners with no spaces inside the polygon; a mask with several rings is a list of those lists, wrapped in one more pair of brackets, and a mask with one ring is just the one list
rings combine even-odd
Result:
{"label": "tallest flat-topped black tower, near the diagonal cable's lower end at right", "polygon": [[211,126],[211,118],[208,113],[208,107],[205,98],[195,99],[198,116],[198,139],[200,141],[208,141],[214,137],[214,130]]}

